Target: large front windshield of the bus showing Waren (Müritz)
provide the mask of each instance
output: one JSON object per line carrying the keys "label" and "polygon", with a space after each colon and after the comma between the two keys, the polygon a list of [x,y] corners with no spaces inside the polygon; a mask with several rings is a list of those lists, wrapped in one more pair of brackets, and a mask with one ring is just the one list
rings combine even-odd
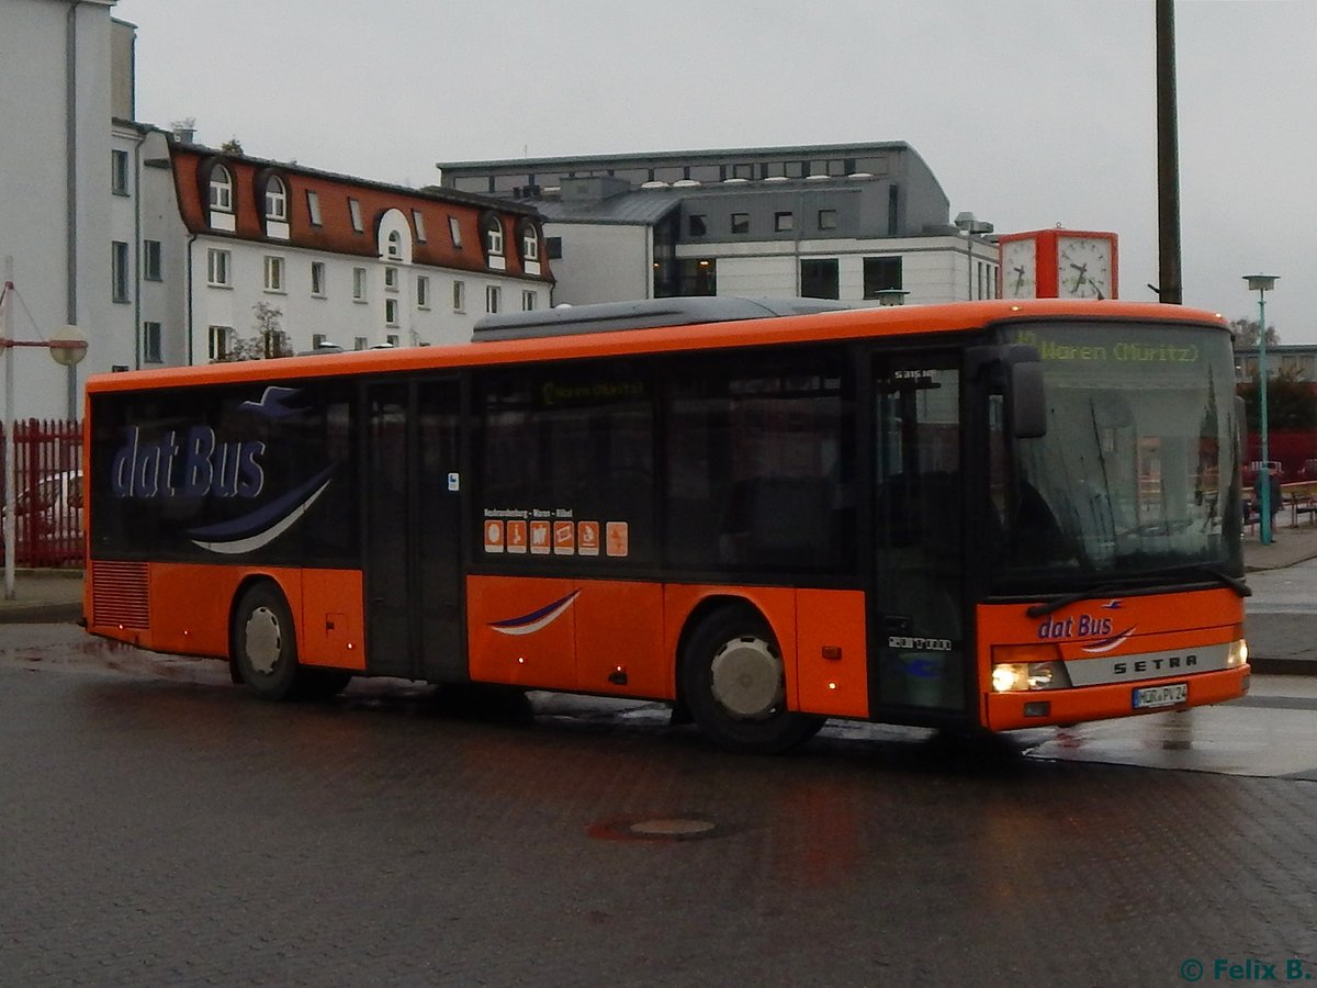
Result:
{"label": "large front windshield of the bus showing Waren (M\u00fcritz)", "polygon": [[1006,440],[993,397],[994,584],[1242,572],[1229,336],[1137,323],[1030,324],[1047,435]]}

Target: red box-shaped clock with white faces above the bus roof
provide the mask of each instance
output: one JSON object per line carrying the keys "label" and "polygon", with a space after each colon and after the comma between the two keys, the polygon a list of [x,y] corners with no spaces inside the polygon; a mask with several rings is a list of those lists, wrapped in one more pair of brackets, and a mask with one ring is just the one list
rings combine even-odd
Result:
{"label": "red box-shaped clock with white faces above the bus roof", "polygon": [[1004,299],[1117,298],[1114,233],[1060,228],[1005,233],[997,250]]}

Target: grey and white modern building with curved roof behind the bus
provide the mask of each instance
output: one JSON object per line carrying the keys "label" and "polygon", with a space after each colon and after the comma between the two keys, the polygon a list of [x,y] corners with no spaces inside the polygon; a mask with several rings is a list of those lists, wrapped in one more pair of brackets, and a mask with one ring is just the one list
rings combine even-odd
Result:
{"label": "grey and white modern building with curved roof behind the bus", "polygon": [[900,141],[440,162],[444,187],[533,202],[554,302],[993,298],[992,227],[950,219]]}

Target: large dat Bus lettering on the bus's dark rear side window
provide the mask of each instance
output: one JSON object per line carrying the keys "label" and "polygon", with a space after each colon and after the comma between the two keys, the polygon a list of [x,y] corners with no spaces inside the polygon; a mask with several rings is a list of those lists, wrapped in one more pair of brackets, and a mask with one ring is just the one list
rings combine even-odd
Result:
{"label": "large dat Bus lettering on the bus's dark rear side window", "polygon": [[194,425],[182,443],[173,429],[144,441],[133,425],[115,453],[115,497],[255,498],[265,487],[263,456],[263,441],[221,443],[208,425]]}

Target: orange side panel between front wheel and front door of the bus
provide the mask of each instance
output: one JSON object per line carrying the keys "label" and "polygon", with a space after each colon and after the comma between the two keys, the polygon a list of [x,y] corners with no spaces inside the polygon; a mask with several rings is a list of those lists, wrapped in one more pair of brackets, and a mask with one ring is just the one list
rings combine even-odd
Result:
{"label": "orange side panel between front wheel and front door of the bus", "polygon": [[797,590],[795,678],[801,710],[869,715],[863,590]]}

